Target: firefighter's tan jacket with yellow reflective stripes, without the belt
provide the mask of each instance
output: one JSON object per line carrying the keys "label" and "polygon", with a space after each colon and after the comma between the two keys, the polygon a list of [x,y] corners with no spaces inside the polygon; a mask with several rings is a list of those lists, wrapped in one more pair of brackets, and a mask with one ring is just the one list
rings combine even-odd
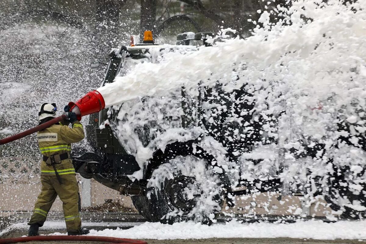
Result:
{"label": "firefighter's tan jacket with yellow reflective stripes, without the belt", "polygon": [[[42,131],[37,132],[38,146],[42,155],[50,157],[55,154],[71,152],[71,143],[79,142],[84,138],[83,125],[79,121],[72,123],[72,128],[67,125],[52,125]],[[75,174],[71,159],[61,161],[61,164],[55,164],[56,170],[60,175]],[[55,170],[52,165],[47,165],[45,161],[41,162],[41,175],[55,176]]]}

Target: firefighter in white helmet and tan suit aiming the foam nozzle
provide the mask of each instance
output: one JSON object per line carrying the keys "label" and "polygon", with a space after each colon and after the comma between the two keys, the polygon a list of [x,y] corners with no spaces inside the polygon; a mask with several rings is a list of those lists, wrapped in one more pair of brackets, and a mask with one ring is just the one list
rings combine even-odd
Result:
{"label": "firefighter in white helmet and tan suit aiming the foam nozzle", "polygon": [[[54,119],[56,110],[56,104],[42,104],[38,113],[40,124]],[[42,189],[28,223],[30,225],[28,236],[38,235],[38,228],[43,226],[57,195],[63,202],[67,234],[89,233],[89,230],[81,228],[79,187],[70,158],[71,143],[79,142],[84,138],[84,129],[76,119],[75,113],[70,112],[70,107],[66,106],[64,110],[68,115],[67,121],[61,121],[37,133],[38,146],[43,156]],[[72,128],[68,127],[70,123]]]}

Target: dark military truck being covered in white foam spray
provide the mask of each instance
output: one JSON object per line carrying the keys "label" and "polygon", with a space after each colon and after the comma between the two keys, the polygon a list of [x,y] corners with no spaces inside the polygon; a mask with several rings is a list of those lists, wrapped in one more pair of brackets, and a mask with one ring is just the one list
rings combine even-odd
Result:
{"label": "dark military truck being covered in white foam spray", "polygon": [[[195,42],[210,48],[206,40],[212,37],[209,32],[182,33],[177,45],[131,42],[114,49],[101,86],[137,63],[159,62],[164,53],[194,52]],[[350,165],[339,168],[332,159],[326,164],[333,171],[317,175],[309,165],[324,153],[324,144],[304,139],[299,142],[304,150],[296,153],[268,129],[278,132],[279,118],[291,111],[264,119],[245,86],[226,93],[220,83],[199,83],[195,93],[181,87],[166,97],[141,97],[90,115],[85,129],[94,151],[74,155],[76,172],[130,195],[139,213],[153,222],[211,224],[224,201],[234,206],[235,196],[269,191],[278,192],[279,199],[323,195],[341,217],[364,216],[365,165],[356,172],[358,181],[349,181]],[[349,131],[350,124],[338,129]],[[288,176],[294,165],[302,173]]]}

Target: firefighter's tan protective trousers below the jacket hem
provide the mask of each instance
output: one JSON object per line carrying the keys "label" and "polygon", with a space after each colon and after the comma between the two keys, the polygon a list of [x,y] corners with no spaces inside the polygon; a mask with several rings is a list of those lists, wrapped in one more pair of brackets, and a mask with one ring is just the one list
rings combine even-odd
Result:
{"label": "firefighter's tan protective trousers below the jacket hem", "polygon": [[63,202],[62,207],[67,231],[78,232],[81,228],[78,183],[75,174],[65,174],[60,177],[62,179],[61,185],[56,176],[41,175],[41,193],[38,195],[33,215],[28,224],[38,223],[42,226],[46,221],[48,211],[58,195]]}

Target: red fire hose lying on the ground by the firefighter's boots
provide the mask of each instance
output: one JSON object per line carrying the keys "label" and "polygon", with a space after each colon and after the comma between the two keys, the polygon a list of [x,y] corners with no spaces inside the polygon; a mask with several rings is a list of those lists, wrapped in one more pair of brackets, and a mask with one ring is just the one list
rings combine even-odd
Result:
{"label": "red fire hose lying on the ground by the firefighter's boots", "polygon": [[97,241],[101,243],[119,243],[119,244],[147,244],[146,241],[115,238],[106,236],[27,236],[0,239],[0,244],[28,242],[28,241]]}

